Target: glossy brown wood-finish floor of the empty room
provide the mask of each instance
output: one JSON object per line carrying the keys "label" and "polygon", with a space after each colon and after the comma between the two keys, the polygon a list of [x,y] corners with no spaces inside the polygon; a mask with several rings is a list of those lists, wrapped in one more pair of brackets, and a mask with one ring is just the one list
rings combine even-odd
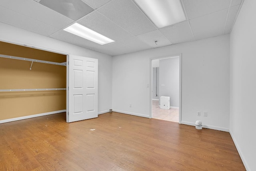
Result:
{"label": "glossy brown wood-finish floor of the empty room", "polygon": [[0,170],[245,170],[228,132],[115,112],[74,123],[65,115],[0,124]]}

